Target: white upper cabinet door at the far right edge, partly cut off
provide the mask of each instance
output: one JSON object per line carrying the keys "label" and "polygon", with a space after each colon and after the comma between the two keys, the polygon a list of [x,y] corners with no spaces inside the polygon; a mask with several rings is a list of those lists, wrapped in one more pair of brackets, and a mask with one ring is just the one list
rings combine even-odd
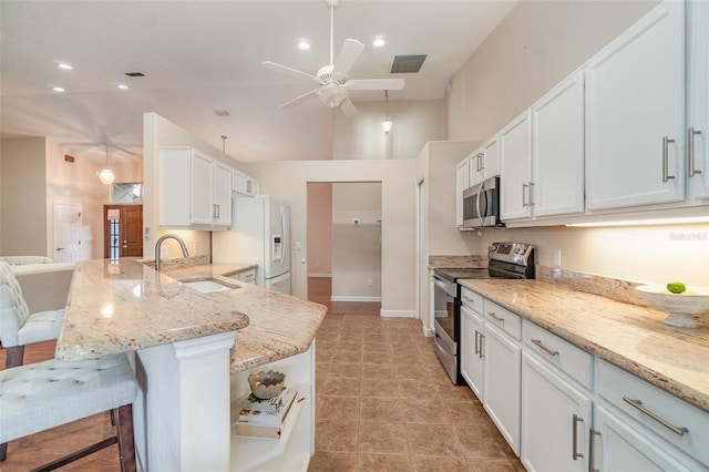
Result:
{"label": "white upper cabinet door at the far right edge, partly cut off", "polygon": [[687,2],[687,10],[688,203],[706,204],[709,198],[709,2]]}

